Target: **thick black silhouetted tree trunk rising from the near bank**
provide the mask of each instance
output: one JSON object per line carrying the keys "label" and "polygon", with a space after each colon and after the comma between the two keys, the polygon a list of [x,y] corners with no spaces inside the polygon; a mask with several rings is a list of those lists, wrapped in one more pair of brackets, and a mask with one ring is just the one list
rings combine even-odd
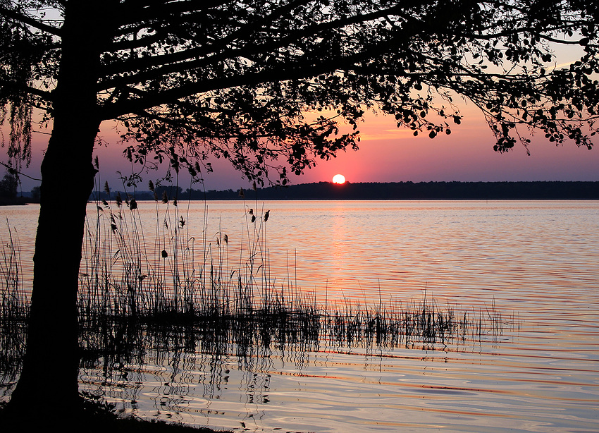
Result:
{"label": "thick black silhouetted tree trunk rising from the near bank", "polygon": [[100,123],[96,94],[100,53],[93,35],[93,25],[99,23],[90,10],[93,3],[69,1],[62,28],[54,125],[42,162],[27,352],[6,408],[7,417],[13,419],[26,414],[21,417],[24,422],[68,420],[80,406],[78,274]]}

